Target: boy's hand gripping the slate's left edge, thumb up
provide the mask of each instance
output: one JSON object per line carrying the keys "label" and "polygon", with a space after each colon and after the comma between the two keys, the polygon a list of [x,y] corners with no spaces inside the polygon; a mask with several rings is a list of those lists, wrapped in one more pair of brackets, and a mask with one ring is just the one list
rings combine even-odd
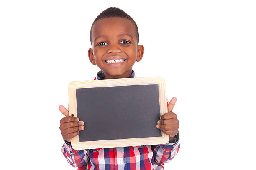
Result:
{"label": "boy's hand gripping the slate's left edge, thumb up", "polygon": [[84,130],[84,122],[79,121],[77,117],[69,116],[69,111],[62,105],[59,106],[59,111],[65,115],[65,117],[60,120],[59,126],[62,138],[71,142],[71,139],[77,136],[80,130]]}

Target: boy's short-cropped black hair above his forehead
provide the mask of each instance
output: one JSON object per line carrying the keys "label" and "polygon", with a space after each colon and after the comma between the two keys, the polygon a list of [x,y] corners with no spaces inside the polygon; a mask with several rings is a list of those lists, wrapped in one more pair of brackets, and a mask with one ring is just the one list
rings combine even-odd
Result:
{"label": "boy's short-cropped black hair above his forehead", "polygon": [[[95,20],[92,23],[92,26],[94,25],[94,23],[96,23],[97,20],[100,20],[102,18],[108,18],[108,17],[121,17],[121,18],[126,18],[128,20],[131,20],[131,22],[135,26],[135,35],[136,35],[136,38],[137,38],[137,42],[139,41],[139,34],[138,34],[137,24],[135,23],[133,18],[130,17],[130,15],[128,15],[123,10],[121,10],[117,7],[109,7],[108,9],[102,11],[102,13],[100,13],[100,15],[98,15],[97,18],[95,18]],[[92,27],[91,27],[91,31],[90,31],[90,41],[91,41],[91,44],[92,44]]]}

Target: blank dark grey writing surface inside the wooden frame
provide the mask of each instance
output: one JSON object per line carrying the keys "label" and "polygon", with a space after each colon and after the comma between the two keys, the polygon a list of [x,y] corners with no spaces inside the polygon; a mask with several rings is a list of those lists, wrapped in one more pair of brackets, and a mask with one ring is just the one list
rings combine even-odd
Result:
{"label": "blank dark grey writing surface inside the wooden frame", "polygon": [[158,84],[76,89],[79,142],[161,137]]}

